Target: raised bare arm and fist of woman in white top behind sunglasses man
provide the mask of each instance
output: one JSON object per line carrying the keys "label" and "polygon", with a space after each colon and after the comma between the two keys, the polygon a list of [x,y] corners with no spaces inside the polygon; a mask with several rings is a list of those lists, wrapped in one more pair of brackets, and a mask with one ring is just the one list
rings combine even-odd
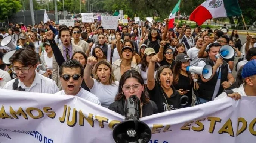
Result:
{"label": "raised bare arm and fist of woman in white top behind sunglasses man", "polygon": [[93,56],[90,56],[87,58],[87,64],[84,69],[84,82],[86,83],[87,87],[89,89],[92,89],[94,81],[93,78],[91,77],[91,69],[94,64],[96,64],[97,59]]}

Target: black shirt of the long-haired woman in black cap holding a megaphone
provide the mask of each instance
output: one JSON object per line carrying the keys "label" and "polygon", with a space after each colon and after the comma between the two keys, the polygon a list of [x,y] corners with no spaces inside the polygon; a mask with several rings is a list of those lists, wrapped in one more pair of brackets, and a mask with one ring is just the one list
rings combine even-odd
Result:
{"label": "black shirt of the long-haired woman in black cap holding a megaphone", "polygon": [[177,85],[173,85],[176,90],[183,89],[183,91],[189,90],[188,93],[184,94],[188,96],[188,105],[192,103],[192,88],[194,86],[194,81],[190,83],[189,77],[179,74],[179,81]]}

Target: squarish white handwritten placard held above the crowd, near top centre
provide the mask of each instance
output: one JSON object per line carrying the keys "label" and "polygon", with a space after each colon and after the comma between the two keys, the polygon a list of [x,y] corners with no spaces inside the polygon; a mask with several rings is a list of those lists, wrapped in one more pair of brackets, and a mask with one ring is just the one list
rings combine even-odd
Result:
{"label": "squarish white handwritten placard held above the crowd, near top centre", "polygon": [[118,25],[118,16],[101,16],[101,26],[104,29],[117,29]]}

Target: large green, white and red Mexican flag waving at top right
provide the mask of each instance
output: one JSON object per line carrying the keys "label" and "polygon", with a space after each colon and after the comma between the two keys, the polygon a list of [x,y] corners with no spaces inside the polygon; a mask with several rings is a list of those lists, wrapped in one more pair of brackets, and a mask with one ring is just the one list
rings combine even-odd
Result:
{"label": "large green, white and red Mexican flag waving at top right", "polygon": [[191,13],[189,19],[202,25],[207,19],[241,14],[237,0],[207,0]]}

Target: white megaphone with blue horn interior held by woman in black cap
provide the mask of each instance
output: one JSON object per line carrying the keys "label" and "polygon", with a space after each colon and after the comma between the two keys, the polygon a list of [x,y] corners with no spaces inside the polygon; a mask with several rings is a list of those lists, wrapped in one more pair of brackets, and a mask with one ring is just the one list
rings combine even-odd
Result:
{"label": "white megaphone with blue horn interior held by woman in black cap", "polygon": [[[209,79],[210,77],[212,77],[211,65],[205,65],[203,68],[198,66],[187,66],[186,71],[191,72],[191,74],[203,75],[204,79]],[[197,79],[194,79],[194,82],[197,82]]]}

